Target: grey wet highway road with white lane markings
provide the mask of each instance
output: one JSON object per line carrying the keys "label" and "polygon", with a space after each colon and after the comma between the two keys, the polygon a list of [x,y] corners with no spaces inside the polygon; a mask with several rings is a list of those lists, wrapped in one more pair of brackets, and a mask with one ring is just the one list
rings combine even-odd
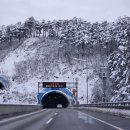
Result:
{"label": "grey wet highway road with white lane markings", "polygon": [[43,109],[2,119],[0,130],[130,130],[130,118],[82,109]]}

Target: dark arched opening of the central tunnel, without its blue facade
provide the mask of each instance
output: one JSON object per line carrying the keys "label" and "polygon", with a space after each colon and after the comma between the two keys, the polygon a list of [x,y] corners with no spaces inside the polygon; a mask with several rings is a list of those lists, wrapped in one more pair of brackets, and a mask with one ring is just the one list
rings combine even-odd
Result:
{"label": "dark arched opening of the central tunnel, without its blue facade", "polygon": [[64,108],[69,105],[67,97],[60,92],[50,92],[42,99],[42,105],[44,108],[57,108],[57,105],[59,104]]}

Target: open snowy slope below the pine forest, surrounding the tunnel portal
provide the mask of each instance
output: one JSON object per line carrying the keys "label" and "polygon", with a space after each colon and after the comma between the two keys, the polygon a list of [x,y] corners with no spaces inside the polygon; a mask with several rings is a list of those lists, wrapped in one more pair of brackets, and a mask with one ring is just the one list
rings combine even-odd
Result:
{"label": "open snowy slope below the pine forest, surrounding the tunnel portal", "polygon": [[[79,102],[86,103],[86,74],[91,77],[88,82],[88,94],[89,100],[91,100],[94,80],[97,80],[98,76],[93,76],[93,69],[87,69],[86,71],[78,62],[74,65],[69,65],[58,60],[55,57],[58,44],[58,42],[51,40],[29,38],[19,48],[7,55],[0,63],[0,70],[1,74],[10,77],[10,89],[3,93],[1,91],[1,97],[3,96],[3,98],[1,98],[0,102],[36,103],[35,97],[38,92],[38,82],[73,82],[77,78]],[[33,64],[35,60],[37,62],[34,70],[33,67],[35,65]],[[23,68],[18,71],[22,65]],[[23,75],[22,72],[24,73]]]}

